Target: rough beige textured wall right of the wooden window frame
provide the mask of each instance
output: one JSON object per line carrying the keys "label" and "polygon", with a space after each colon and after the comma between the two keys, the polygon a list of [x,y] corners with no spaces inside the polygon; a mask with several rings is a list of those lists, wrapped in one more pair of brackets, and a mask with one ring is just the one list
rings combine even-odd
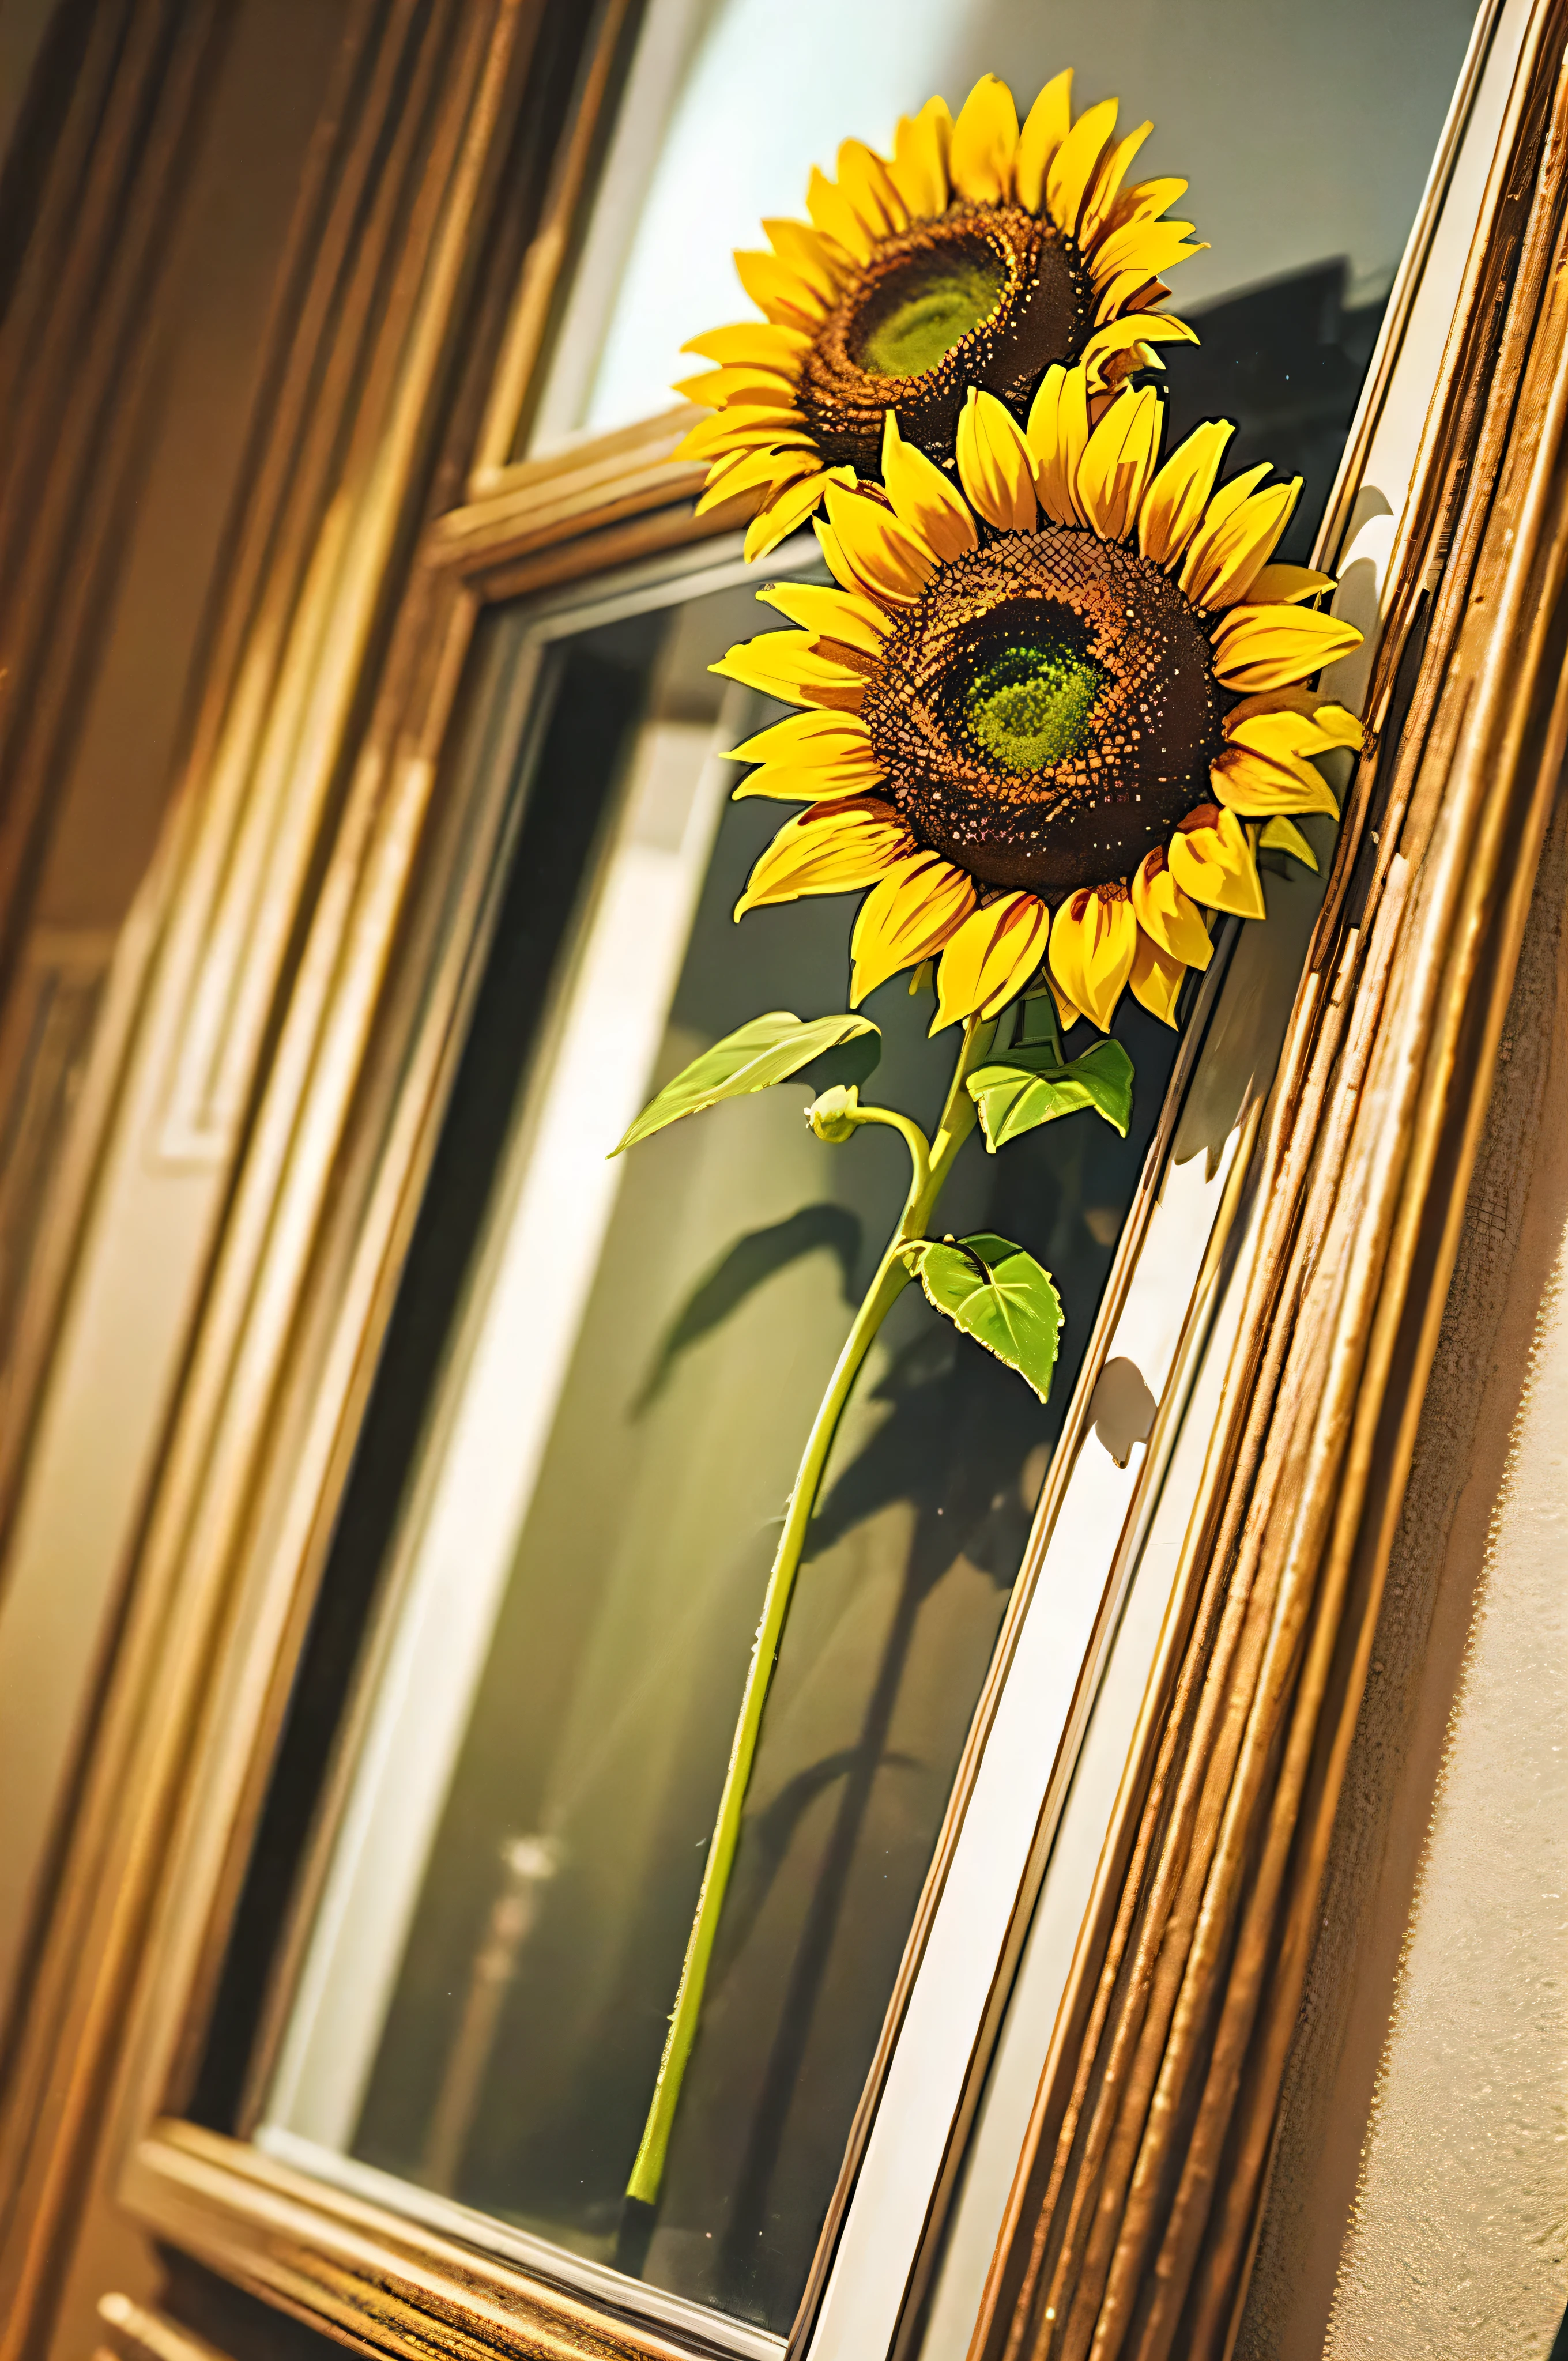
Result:
{"label": "rough beige textured wall right of the wooden window frame", "polygon": [[1237,2361],[1544,2361],[1568,2302],[1566,890],[1559,805]]}

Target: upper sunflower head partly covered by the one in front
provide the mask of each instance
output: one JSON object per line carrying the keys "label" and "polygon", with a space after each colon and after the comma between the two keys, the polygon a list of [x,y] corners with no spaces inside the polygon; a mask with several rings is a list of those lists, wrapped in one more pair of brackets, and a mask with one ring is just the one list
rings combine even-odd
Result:
{"label": "upper sunflower head partly covered by the one in front", "polygon": [[[1193,331],[1150,305],[1159,274],[1202,248],[1162,220],[1185,179],[1124,189],[1152,123],[1115,137],[1117,102],[1072,120],[1072,73],[1046,83],[1023,130],[1006,83],[975,83],[897,125],[893,156],[860,139],[838,179],[812,172],[805,222],[763,222],[772,253],[734,257],[760,321],[685,352],[718,364],[675,392],[713,416],[680,444],[708,460],[699,508],[760,493],[746,557],[763,557],[829,482],[876,475],[883,413],[947,458],[978,385],[1020,413],[1048,364],[1082,361],[1103,392]],[[848,475],[845,475],[848,470]]]}

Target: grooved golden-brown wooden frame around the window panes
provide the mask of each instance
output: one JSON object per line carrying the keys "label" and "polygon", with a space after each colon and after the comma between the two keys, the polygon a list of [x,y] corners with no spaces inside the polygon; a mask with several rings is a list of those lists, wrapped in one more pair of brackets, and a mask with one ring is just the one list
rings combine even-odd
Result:
{"label": "grooved golden-brown wooden frame around the window panes", "polygon": [[[451,9],[472,50],[453,187],[468,158],[477,189],[517,106],[527,12],[505,0]],[[463,831],[432,815],[475,623],[491,602],[673,555],[737,522],[725,510],[692,517],[699,470],[673,458],[675,418],[560,458],[510,456],[628,9],[607,5],[477,427],[446,477],[460,498],[437,501],[411,536],[385,649],[347,645],[331,614],[312,609],[309,564],[298,569],[298,630],[269,699],[243,708],[239,661],[213,692],[158,885],[163,956],[144,954],[135,989],[120,977],[116,1006],[130,1013],[111,1027],[116,1067],[90,1098],[83,1157],[102,1178],[118,1110],[135,1098],[153,1110],[142,1119],[170,1157],[196,1152],[203,1124],[220,1138],[227,1206],[21,2019],[17,2054],[33,2064],[0,2118],[14,2200],[0,2248],[12,2297],[0,2356],[21,2356],[47,2319],[59,2245],[85,2203],[120,2208],[361,2352],[675,2361],[694,2349],[182,2118],[477,982],[501,798]],[[364,24],[373,17],[366,0]],[[1381,746],[1355,774],[1280,1079],[1252,1136],[1249,1188],[1268,1214],[1242,1332],[975,2361],[1011,2361],[1023,2342],[1056,2352],[1044,2302],[1058,2267],[1070,2300],[1122,2304],[1129,2354],[1174,2349],[1178,2321],[1183,2352],[1219,2356],[1235,2335],[1339,1773],[1568,734],[1556,678],[1568,574],[1566,38],[1563,0],[1535,0],[1389,564],[1367,704]],[[1351,519],[1440,196],[1443,170],[1396,288],[1325,548]],[[449,203],[442,269],[456,288],[475,260],[463,241],[477,234],[477,210]],[[437,345],[456,319],[449,307],[430,323]],[[418,453],[411,427],[399,491]],[[368,498],[392,501],[385,486]],[[392,510],[380,519],[380,576],[397,567],[394,522]],[[328,529],[319,519],[316,548]],[[236,732],[264,734],[267,715],[300,699],[321,666],[352,760],[340,793],[328,770],[314,798],[279,803],[293,829],[283,902],[295,923],[288,944],[279,937],[269,994],[246,1015],[234,980],[255,951],[267,878],[257,871],[236,918],[224,859],[246,857],[248,822],[220,793],[224,765],[234,770]],[[198,1039],[224,985],[227,1032]],[[92,1225],[113,1244],[113,1192],[94,1199],[83,1185],[59,1221],[76,1221],[66,1263]],[[1315,1263],[1322,1235],[1353,1275],[1334,1299]],[[1093,1374],[1084,1369],[1082,1398]],[[1289,1551],[1247,1520],[1256,1492],[1289,1504]],[[1273,1601],[1273,1624],[1244,1627],[1249,1596]],[[1242,1773],[1214,1787],[1216,1681],[1235,1690],[1247,1665]],[[1193,1896],[1188,2016],[1174,2035],[1188,2047],[1145,2059],[1150,2089],[1167,2073],[1188,2113],[1169,2111],[1169,2130],[1143,2149],[1143,2179],[1115,2193],[1110,2125],[1096,2144],[1096,2078],[1150,2021],[1157,1936],[1176,1924],[1174,1863],[1202,1813],[1223,1820],[1230,1851]],[[1240,1863],[1256,1856],[1273,1886],[1254,1879],[1240,1934],[1204,1950],[1202,1903],[1240,1908]],[[1020,1903],[1018,1938],[1025,1917]],[[997,2007],[1004,1990],[1006,1974]],[[1193,2082],[1193,2045],[1214,2026],[1219,2066]],[[966,2123],[954,2125],[945,2189]],[[1221,2167],[1228,2193],[1211,2222],[1200,2198]],[[1096,2264],[1082,2224],[1108,2191],[1115,2241]],[[914,2342],[935,2234],[933,2215],[897,2349]],[[123,2354],[198,2349],[125,2297],[102,2309],[104,2337]]]}

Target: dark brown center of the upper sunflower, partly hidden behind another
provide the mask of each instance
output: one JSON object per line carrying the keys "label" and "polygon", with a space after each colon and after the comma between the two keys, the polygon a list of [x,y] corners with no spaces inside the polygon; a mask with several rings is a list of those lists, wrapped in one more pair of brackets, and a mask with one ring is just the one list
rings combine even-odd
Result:
{"label": "dark brown center of the upper sunflower, partly hidden behind another", "polygon": [[1025,404],[1089,333],[1077,246],[1018,205],[954,205],[883,238],[805,357],[801,406],[831,467],[876,475],[883,411],[942,460],[971,385]]}

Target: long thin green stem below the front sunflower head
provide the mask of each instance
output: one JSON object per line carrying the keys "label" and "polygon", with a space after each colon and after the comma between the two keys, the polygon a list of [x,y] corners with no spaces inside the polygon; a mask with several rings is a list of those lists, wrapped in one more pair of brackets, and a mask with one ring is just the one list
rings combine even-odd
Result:
{"label": "long thin green stem below the front sunflower head", "polygon": [[647,2123],[642,2125],[638,2160],[633,2163],[631,2179],[626,2184],[626,2196],[638,2198],[642,2205],[656,2203],[659,2186],[664,2182],[664,2160],[671,2144],[671,2130],[675,2125],[675,2108],[680,2106],[680,2085],[685,2080],[687,2059],[692,2056],[692,2042],[697,2040],[708,1962],[713,1957],[713,1941],[725,1908],[725,1889],[730,1884],[730,1870],[739,1846],[741,1811],[746,1804],[746,1787],[751,1785],[751,1764],[756,1759],[758,1733],[763,1726],[763,1707],[767,1705],[767,1690],[772,1686],[772,1672],[779,1657],[784,1624],[789,1620],[789,1603],[801,1570],[801,1556],[805,1551],[805,1535],[817,1506],[817,1492],[822,1490],[822,1476],[827,1473],[834,1435],[838,1433],[838,1419],[843,1417],[845,1402],[860,1367],[871,1350],[878,1327],[909,1284],[902,1249],[912,1240],[928,1235],[930,1216],[937,1197],[942,1195],[942,1183],[947,1180],[963,1140],[975,1129],[975,1103],[968,1096],[966,1084],[973,1070],[989,1055],[994,1039],[994,1018],[985,1022],[980,1018],[971,1018],[966,1022],[942,1119],[930,1145],[916,1124],[895,1114],[890,1107],[860,1110],[862,1121],[883,1121],[902,1131],[912,1162],[909,1195],[904,1197],[904,1211],[900,1214],[897,1228],[888,1240],[888,1249],[876,1265],[864,1303],[855,1313],[850,1334],[843,1341],[827,1393],[822,1395],[822,1407],[817,1410],[812,1431],[805,1440],[796,1487],[789,1495],[784,1532],[779,1535],[772,1575],[767,1577],[763,1620],[758,1622],[756,1643],[751,1648],[741,1709],[730,1742],[730,1766],[725,1771],[718,1818],[708,1842],[708,1865],[704,1870],[701,1894],[697,1896],[697,1917],[692,1919],[692,1931],[687,1936],[680,1988],[671,2012],[671,2030],[664,2042],[664,2059],[659,2061],[659,2080],[654,2082]]}

